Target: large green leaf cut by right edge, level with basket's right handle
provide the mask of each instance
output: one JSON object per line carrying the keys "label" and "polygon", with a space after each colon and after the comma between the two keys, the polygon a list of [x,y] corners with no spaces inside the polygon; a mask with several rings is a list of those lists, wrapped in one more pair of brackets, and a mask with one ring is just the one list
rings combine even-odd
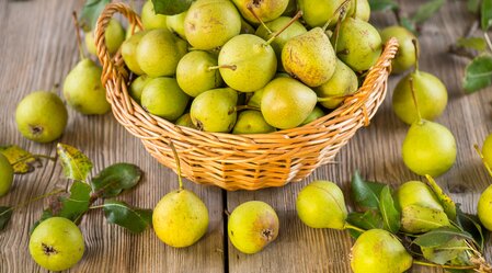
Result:
{"label": "large green leaf cut by right edge, level with basket's right handle", "polygon": [[467,93],[487,88],[492,83],[492,56],[476,57],[465,69],[462,87]]}

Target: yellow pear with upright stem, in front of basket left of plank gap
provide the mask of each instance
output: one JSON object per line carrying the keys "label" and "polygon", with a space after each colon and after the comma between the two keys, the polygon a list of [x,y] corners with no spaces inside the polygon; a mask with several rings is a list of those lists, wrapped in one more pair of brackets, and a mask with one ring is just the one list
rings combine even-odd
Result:
{"label": "yellow pear with upright stem, in front of basket left of plank gap", "polygon": [[198,241],[208,229],[208,209],[191,191],[180,189],[165,194],[153,208],[152,226],[157,237],[174,248]]}

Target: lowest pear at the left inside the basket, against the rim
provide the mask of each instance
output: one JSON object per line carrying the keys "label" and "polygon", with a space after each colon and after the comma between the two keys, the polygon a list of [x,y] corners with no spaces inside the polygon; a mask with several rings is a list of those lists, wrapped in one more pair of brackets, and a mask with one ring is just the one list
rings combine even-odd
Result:
{"label": "lowest pear at the left inside the basket, against the rim", "polygon": [[159,77],[144,87],[141,106],[153,115],[173,122],[184,113],[188,99],[174,78]]}

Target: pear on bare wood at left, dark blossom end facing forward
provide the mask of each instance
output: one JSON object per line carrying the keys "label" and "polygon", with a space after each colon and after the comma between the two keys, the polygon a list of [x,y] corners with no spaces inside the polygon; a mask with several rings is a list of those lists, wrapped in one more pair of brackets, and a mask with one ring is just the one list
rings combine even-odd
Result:
{"label": "pear on bare wood at left, dark blossom end facing forward", "polygon": [[53,92],[33,92],[23,98],[15,109],[19,132],[36,143],[50,143],[59,138],[67,120],[64,102]]}

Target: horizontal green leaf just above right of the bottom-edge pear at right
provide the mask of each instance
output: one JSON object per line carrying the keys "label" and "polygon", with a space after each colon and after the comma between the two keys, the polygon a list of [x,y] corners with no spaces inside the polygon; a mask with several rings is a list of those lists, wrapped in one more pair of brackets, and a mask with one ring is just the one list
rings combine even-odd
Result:
{"label": "horizontal green leaf just above right of the bottom-edge pear at right", "polygon": [[473,240],[473,237],[467,231],[451,227],[440,227],[416,237],[413,243],[424,248],[437,248],[455,238]]}

